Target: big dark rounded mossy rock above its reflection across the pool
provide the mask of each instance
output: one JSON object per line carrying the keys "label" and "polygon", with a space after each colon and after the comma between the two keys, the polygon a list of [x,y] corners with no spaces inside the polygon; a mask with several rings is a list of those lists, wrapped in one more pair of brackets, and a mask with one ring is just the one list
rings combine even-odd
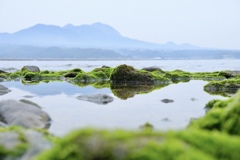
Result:
{"label": "big dark rounded mossy rock above its reflection across the pool", "polygon": [[114,84],[154,84],[148,72],[140,72],[125,64],[114,68],[110,80]]}

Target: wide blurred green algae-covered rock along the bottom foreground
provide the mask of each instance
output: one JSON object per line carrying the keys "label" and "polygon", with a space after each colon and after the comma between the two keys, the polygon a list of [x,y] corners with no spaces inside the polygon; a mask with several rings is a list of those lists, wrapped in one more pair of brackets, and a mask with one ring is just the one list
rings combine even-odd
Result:
{"label": "wide blurred green algae-covered rock along the bottom foreground", "polygon": [[236,160],[240,138],[218,132],[84,129],[60,139],[36,160]]}

